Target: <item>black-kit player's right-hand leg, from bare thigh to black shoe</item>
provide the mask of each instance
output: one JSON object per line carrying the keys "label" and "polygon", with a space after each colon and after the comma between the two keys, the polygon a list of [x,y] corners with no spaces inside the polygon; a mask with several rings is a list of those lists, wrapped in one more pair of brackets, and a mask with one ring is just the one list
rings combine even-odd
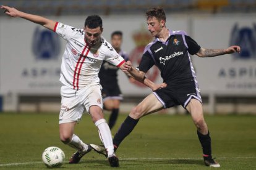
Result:
{"label": "black-kit player's right-hand leg, from bare thigh to black shoe", "polygon": [[207,166],[220,167],[216,161],[211,158],[211,137],[208,131],[207,123],[203,118],[203,106],[197,99],[191,99],[186,107],[192,116],[193,122],[197,127],[197,136],[202,145],[203,158]]}

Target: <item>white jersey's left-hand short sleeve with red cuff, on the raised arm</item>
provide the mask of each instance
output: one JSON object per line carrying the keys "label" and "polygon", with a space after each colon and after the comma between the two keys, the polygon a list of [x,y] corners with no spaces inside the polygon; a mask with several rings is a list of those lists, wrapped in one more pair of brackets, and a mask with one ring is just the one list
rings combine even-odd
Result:
{"label": "white jersey's left-hand short sleeve with red cuff, on the raised arm", "polygon": [[[64,23],[56,22],[53,31],[59,34],[59,36],[64,38],[66,41],[69,41],[69,39],[72,38],[72,36],[79,32],[79,29],[73,28],[69,25],[65,25]],[[82,33],[82,31],[80,32]]]}

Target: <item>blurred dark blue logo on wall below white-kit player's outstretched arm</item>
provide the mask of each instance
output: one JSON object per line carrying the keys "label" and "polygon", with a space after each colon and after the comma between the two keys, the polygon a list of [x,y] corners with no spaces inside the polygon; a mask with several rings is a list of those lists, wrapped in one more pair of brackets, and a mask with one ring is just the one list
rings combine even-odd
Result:
{"label": "blurred dark blue logo on wall below white-kit player's outstretched arm", "polygon": [[58,59],[61,44],[58,34],[36,27],[33,34],[32,51],[38,60]]}

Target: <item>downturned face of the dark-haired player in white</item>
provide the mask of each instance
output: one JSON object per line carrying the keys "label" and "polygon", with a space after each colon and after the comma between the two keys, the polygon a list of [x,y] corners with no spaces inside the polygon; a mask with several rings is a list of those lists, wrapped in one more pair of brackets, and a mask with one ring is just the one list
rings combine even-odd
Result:
{"label": "downturned face of the dark-haired player in white", "polygon": [[84,28],[85,31],[85,42],[87,42],[89,47],[93,47],[101,40],[102,28],[98,26],[97,28]]}

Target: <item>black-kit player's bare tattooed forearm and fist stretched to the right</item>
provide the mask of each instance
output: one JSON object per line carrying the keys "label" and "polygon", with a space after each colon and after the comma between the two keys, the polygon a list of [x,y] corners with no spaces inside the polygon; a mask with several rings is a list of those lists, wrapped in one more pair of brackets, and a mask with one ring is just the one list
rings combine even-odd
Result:
{"label": "black-kit player's bare tattooed forearm and fist stretched to the right", "polygon": [[197,52],[198,57],[215,57],[218,55],[232,54],[234,52],[240,53],[241,49],[239,46],[230,46],[227,49],[203,49],[202,47]]}

